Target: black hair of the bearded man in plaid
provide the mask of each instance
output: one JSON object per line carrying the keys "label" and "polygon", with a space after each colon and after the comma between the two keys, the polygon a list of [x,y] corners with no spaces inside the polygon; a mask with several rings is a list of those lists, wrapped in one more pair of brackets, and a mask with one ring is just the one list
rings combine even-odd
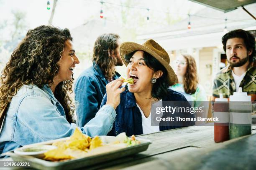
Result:
{"label": "black hair of the bearded man in plaid", "polygon": [[246,45],[247,50],[252,50],[251,55],[249,55],[249,62],[253,62],[255,60],[256,49],[255,49],[255,37],[248,31],[245,30],[233,30],[226,33],[222,37],[223,50],[226,52],[226,44],[228,39],[230,38],[242,38],[243,42]]}

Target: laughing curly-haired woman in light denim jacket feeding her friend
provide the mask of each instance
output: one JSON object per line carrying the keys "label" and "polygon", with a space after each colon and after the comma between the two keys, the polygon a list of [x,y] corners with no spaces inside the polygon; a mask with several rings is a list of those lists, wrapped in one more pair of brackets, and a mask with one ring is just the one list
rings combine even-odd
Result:
{"label": "laughing curly-haired woman in light denim jacket feeding her friend", "polygon": [[[39,26],[29,30],[3,70],[0,86],[0,153],[46,140],[72,135],[77,125],[72,92],[73,70],[79,60],[68,29]],[[107,86],[108,102],[96,117],[81,128],[82,133],[106,135],[115,121],[123,80]]]}

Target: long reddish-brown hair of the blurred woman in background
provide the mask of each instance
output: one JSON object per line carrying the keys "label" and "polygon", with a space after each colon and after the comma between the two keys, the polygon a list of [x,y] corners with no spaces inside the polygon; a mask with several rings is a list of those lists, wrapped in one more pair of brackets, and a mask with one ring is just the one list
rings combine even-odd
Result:
{"label": "long reddish-brown hair of the blurred woman in background", "polygon": [[187,60],[187,70],[184,75],[184,91],[187,94],[194,94],[197,90],[198,77],[197,77],[197,65],[194,57],[189,54],[182,54],[182,56]]}

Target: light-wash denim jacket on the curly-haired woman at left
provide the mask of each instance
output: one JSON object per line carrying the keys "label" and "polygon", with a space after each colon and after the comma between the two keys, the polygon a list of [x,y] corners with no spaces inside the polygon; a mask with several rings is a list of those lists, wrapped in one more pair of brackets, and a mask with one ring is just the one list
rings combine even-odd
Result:
{"label": "light-wash denim jacket on the curly-haired woman at left", "polygon": [[[45,85],[23,85],[12,98],[0,134],[0,153],[23,145],[69,137],[77,125],[66,120],[64,108]],[[80,128],[89,136],[107,135],[113,128],[115,110],[105,105]]]}

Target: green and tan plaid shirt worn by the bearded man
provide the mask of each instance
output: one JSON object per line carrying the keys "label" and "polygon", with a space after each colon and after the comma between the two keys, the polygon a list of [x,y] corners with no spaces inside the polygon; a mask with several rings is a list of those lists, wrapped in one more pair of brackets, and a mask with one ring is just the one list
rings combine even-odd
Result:
{"label": "green and tan plaid shirt worn by the bearded man", "polygon": [[[251,95],[252,101],[256,100],[256,67],[253,63],[248,67],[239,87],[243,88],[243,92]],[[236,85],[231,67],[228,65],[217,73],[213,82],[212,95],[217,98],[222,93],[223,97],[229,98],[230,95],[233,95],[233,92],[236,92]]]}

